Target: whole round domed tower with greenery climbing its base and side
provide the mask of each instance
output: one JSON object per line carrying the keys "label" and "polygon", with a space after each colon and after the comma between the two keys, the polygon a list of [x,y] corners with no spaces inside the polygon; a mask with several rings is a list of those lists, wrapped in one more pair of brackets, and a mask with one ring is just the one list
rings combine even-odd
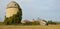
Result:
{"label": "whole round domed tower with greenery climbing its base and side", "polygon": [[6,15],[4,24],[18,24],[21,23],[22,19],[22,9],[15,2],[10,2],[6,7]]}

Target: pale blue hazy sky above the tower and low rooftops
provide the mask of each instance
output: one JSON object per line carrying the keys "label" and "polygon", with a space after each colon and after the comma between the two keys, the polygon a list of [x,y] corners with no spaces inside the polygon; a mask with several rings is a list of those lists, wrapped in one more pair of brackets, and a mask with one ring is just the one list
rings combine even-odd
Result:
{"label": "pale blue hazy sky above the tower and low rooftops", "polygon": [[17,2],[22,8],[24,19],[60,21],[60,0],[0,0],[0,21],[4,21],[7,4]]}

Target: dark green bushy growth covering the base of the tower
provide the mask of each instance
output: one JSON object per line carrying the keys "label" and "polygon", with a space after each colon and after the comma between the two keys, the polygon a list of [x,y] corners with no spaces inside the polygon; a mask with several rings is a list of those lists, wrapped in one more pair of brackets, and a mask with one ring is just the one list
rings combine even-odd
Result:
{"label": "dark green bushy growth covering the base of the tower", "polygon": [[13,16],[6,18],[5,16],[5,20],[4,20],[4,24],[6,25],[10,25],[10,24],[19,24],[21,23],[22,20],[22,14],[20,14],[19,12],[17,14],[14,14]]}

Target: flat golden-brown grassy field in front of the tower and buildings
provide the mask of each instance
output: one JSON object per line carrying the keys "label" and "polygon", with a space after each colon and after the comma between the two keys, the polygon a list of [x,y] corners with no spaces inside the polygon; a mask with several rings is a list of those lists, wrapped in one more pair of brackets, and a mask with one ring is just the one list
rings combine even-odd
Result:
{"label": "flat golden-brown grassy field in front of the tower and buildings", "polygon": [[60,29],[60,25],[48,25],[48,26],[0,25],[0,29]]}

